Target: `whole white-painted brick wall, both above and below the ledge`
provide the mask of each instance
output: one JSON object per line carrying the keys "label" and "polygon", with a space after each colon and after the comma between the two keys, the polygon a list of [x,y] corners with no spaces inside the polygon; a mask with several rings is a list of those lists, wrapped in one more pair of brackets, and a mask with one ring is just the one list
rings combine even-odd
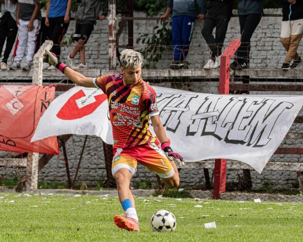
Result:
{"label": "whole white-painted brick wall, both above and below the ledge", "polygon": [[[276,10],[265,10],[265,13],[277,13],[281,14],[281,9]],[[144,17],[142,12],[135,12],[135,17]],[[70,36],[75,31],[75,21],[71,21],[68,28],[66,38]],[[134,21],[134,43],[138,37],[143,33],[149,35],[152,34],[154,26],[157,24],[156,21]],[[118,22],[117,22],[118,25]],[[191,41],[190,52],[187,57],[187,61],[191,63],[190,68],[201,68],[209,58],[209,49],[206,45],[205,40],[201,36],[201,29],[203,26],[203,21],[196,20],[196,25],[194,28],[194,33]],[[281,17],[263,17],[259,23],[252,39],[251,39],[251,68],[280,68],[286,52],[280,43],[280,27],[281,27]],[[117,27],[118,28],[118,27]],[[239,23],[237,17],[232,17],[229,23],[228,31],[226,33],[226,40],[224,46],[234,38],[240,38]],[[119,44],[127,44],[127,32],[124,30],[122,32],[121,38],[119,39]],[[63,62],[67,62],[66,56],[72,52],[75,43],[68,46],[62,47],[61,59]],[[135,44],[135,49],[140,50],[144,48],[145,45],[139,43]],[[302,54],[302,46],[300,45],[298,49],[299,54]],[[76,62],[78,56],[76,57]],[[94,31],[90,39],[86,44],[86,60],[90,68],[96,68],[101,70],[107,70],[108,66],[108,20],[97,21]],[[157,68],[168,68],[172,61],[171,49],[167,49],[167,52],[162,53],[162,59],[159,64],[156,64]],[[117,63],[118,65],[118,63]],[[302,68],[302,67],[301,67]],[[159,84],[161,86],[170,87],[170,83]],[[216,93],[217,83],[191,83],[190,86],[193,91],[202,91],[205,93]],[[58,93],[57,93],[58,94]],[[260,94],[260,93],[258,93]],[[80,152],[82,150],[82,145],[84,141],[84,136],[73,136],[69,141],[67,141],[67,155],[68,162],[70,165],[70,171],[72,179],[74,177],[75,171],[77,169]],[[288,142],[288,143],[287,143]],[[287,143],[295,141],[283,141]],[[0,152],[0,155],[3,152]],[[63,152],[60,150],[60,154]],[[294,156],[283,156],[283,157],[273,157],[272,159],[278,159],[276,161],[301,161],[300,157]],[[10,172],[14,172],[14,169],[5,170],[0,168],[0,175],[6,175]],[[210,170],[212,173],[212,170]],[[227,171],[227,180],[229,182],[237,181],[237,173],[241,174],[241,170],[231,170]],[[142,165],[138,166],[138,172],[134,176],[133,181],[149,180],[156,182],[156,176],[148,171],[146,171]],[[201,169],[182,169],[180,172],[180,180],[182,186],[193,186],[203,184],[204,174]],[[87,183],[97,184],[100,181],[106,179],[105,163],[102,141],[98,137],[89,137],[85,152],[80,165],[80,171],[78,174],[78,181],[86,181]],[[66,182],[66,168],[62,157],[53,157],[52,160],[39,172],[39,180],[44,182],[58,181]],[[273,182],[276,187],[287,187],[292,188],[293,184],[297,183],[296,173],[281,171],[281,172],[271,172],[263,171],[261,175],[256,172],[252,172],[253,187],[261,187],[265,182]]]}

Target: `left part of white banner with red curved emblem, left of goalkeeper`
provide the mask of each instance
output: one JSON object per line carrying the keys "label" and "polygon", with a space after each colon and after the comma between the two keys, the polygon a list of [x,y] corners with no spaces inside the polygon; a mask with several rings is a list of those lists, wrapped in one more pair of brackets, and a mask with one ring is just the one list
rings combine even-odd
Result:
{"label": "left part of white banner with red curved emblem, left of goalkeeper", "polygon": [[40,118],[31,142],[63,134],[96,135],[113,143],[107,96],[101,89],[76,86],[55,98]]}

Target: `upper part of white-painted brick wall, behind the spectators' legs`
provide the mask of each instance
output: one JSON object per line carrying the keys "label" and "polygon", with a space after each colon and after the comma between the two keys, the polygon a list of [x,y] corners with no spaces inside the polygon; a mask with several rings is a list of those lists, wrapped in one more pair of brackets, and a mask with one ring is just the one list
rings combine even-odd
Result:
{"label": "upper part of white-painted brick wall, behind the spectators' legs", "polygon": [[[265,9],[265,14],[281,14],[281,9]],[[234,11],[236,13],[236,11]],[[43,15],[43,14],[42,14]],[[44,13],[45,15],[45,13]],[[135,12],[134,17],[146,17],[143,12]],[[286,51],[280,43],[281,17],[262,17],[256,31],[251,38],[251,68],[280,68],[282,65]],[[120,21],[117,21],[117,30]],[[209,49],[204,38],[201,35],[203,20],[196,19],[194,32],[192,35],[190,51],[187,61],[191,63],[190,68],[201,68],[209,58]],[[135,20],[134,21],[134,45],[135,50],[146,48],[145,44],[139,42],[136,44],[137,38],[147,33],[149,36],[153,33],[153,28],[159,25],[156,20]],[[70,22],[66,40],[71,38],[75,32],[76,21]],[[169,26],[169,25],[168,25]],[[232,17],[226,33],[224,46],[234,39],[240,38],[240,26],[238,17]],[[127,45],[127,28],[122,31],[119,38],[119,45]],[[61,59],[67,62],[67,54],[72,52],[75,43],[62,47]],[[122,49],[120,49],[121,51]],[[303,51],[302,45],[299,46],[298,53],[301,55]],[[154,63],[154,68],[166,69],[172,61],[171,46],[162,52],[160,62]],[[79,56],[75,58],[78,62]],[[11,57],[9,62],[11,62]],[[97,21],[90,39],[86,44],[86,60],[89,68],[108,69],[108,20]],[[118,65],[118,62],[117,62]]]}

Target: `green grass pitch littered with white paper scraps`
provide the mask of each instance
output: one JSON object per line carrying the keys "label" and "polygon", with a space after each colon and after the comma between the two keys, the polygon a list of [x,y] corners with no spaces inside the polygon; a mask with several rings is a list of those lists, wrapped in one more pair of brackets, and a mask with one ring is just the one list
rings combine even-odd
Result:
{"label": "green grass pitch littered with white paper scraps", "polygon": [[[115,196],[0,193],[0,241],[302,241],[303,204],[135,197],[140,232],[116,227]],[[157,210],[174,232],[152,232]],[[216,222],[216,229],[205,223]]]}

